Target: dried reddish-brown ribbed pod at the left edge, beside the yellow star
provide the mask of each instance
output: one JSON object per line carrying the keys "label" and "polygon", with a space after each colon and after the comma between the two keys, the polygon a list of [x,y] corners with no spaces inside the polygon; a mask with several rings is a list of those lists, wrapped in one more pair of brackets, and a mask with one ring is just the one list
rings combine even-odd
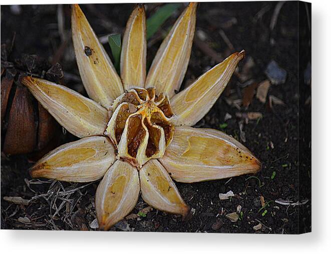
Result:
{"label": "dried reddish-brown ribbed pod at the left edge, beside the yellow star", "polygon": [[[3,50],[6,54],[3,54]],[[61,127],[21,84],[21,77],[33,75],[62,83],[59,64],[50,66],[36,55],[25,55],[10,62],[2,45],[1,136],[6,155],[30,154],[37,160],[59,145]]]}

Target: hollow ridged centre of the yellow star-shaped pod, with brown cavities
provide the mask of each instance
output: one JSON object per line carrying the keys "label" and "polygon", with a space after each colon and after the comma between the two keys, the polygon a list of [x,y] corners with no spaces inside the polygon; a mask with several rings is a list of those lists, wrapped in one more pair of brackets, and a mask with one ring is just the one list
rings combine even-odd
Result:
{"label": "hollow ridged centre of the yellow star-shaped pod, with brown cavities", "polygon": [[166,95],[155,88],[133,88],[118,97],[107,129],[117,146],[118,158],[142,167],[153,158],[161,158],[174,131],[174,114]]}

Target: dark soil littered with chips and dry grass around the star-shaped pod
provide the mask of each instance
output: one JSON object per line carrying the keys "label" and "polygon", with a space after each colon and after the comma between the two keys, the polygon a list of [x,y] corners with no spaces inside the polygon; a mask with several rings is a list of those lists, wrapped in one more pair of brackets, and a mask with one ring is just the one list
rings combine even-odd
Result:
{"label": "dark soil littered with chips and dry grass around the star-shaped pod", "polygon": [[[147,16],[159,5],[148,4]],[[123,33],[133,7],[132,4],[82,5],[100,37]],[[139,198],[132,213],[144,209],[146,216],[131,216],[111,230],[284,234],[311,230],[310,90],[302,98],[298,85],[299,80],[302,81],[298,72],[306,68],[308,57],[298,59],[298,19],[301,17],[297,15],[298,3],[285,2],[279,14],[274,15],[277,7],[277,2],[201,3],[182,86],[189,85],[231,53],[246,51],[237,74],[196,127],[214,128],[232,135],[260,159],[262,170],[255,176],[177,183],[183,199],[192,208],[192,218],[188,221],[155,209],[144,209],[148,205]],[[183,8],[184,5],[149,40],[149,64]],[[307,13],[304,11],[304,21],[309,19]],[[270,29],[272,22],[275,22],[274,28]],[[70,37],[69,6],[2,6],[1,43],[10,44],[14,33],[10,61],[15,62],[22,54],[36,54],[53,64],[59,62],[66,85],[86,95]],[[107,40],[104,46],[110,54]],[[272,84],[263,103],[254,94],[257,84],[267,80],[265,70],[272,60],[286,71],[286,81]],[[252,117],[247,112],[259,114]],[[61,142],[74,139],[67,132]],[[300,149],[299,141],[304,142],[304,148]],[[28,174],[31,165],[28,155],[2,153],[1,228],[96,230],[94,195],[98,181],[72,184],[32,179]],[[235,195],[220,200],[219,193],[229,190]],[[4,196],[31,201],[15,204],[5,201]],[[236,212],[239,205],[239,219],[231,222],[226,214]]]}

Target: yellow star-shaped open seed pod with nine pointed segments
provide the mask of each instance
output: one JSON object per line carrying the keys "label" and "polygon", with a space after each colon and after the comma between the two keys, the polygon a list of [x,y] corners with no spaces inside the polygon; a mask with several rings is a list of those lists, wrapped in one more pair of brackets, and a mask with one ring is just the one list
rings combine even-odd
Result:
{"label": "yellow star-shaped open seed pod with nine pointed segments", "polygon": [[39,160],[32,177],[102,178],[95,199],[100,229],[126,216],[140,191],[156,209],[187,216],[189,207],[172,179],[190,183],[260,170],[260,162],[231,136],[190,127],[220,96],[244,51],[175,93],[189,62],[196,8],[197,3],[190,3],[177,19],[146,76],[146,17],[138,5],[124,33],[119,77],[80,7],[73,5],[75,53],[91,99],[46,80],[22,80],[62,126],[81,138]]}

